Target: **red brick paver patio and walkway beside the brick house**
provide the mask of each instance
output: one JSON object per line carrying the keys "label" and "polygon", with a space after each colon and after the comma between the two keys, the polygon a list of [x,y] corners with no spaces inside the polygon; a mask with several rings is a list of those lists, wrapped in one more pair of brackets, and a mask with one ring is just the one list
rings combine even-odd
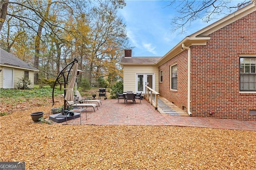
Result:
{"label": "red brick paver patio and walkway beside the brick house", "polygon": [[[99,110],[95,113],[93,109],[87,109],[87,120],[86,113],[82,113],[82,125],[172,125],[256,131],[256,121],[184,116],[182,110],[179,110],[175,105],[169,106],[174,107],[172,109],[182,116],[168,115],[161,112],[160,108],[159,112],[146,100],[142,100],[141,103],[137,101],[135,104],[129,101],[128,104],[122,101],[117,103],[117,99],[103,99],[101,102],[102,105],[98,107]],[[68,121],[68,124],[80,125],[80,118],[72,119]]]}

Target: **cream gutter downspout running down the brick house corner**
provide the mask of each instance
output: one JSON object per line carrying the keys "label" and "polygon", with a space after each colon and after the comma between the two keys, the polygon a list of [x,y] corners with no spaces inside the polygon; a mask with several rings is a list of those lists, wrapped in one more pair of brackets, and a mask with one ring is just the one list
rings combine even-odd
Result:
{"label": "cream gutter downspout running down the brick house corner", "polygon": [[187,49],[188,50],[188,115],[192,115],[191,111],[190,111],[190,85],[191,85],[191,82],[190,82],[190,70],[191,70],[191,49],[190,47],[186,47],[184,45],[184,43],[182,44],[182,49]]}

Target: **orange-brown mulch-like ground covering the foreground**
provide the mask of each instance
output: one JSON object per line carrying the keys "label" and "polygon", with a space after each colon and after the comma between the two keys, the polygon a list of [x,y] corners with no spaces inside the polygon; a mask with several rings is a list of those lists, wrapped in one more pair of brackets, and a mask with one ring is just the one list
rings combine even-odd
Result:
{"label": "orange-brown mulch-like ground covering the foreground", "polygon": [[0,161],[28,169],[256,169],[256,132],[174,126],[33,123],[30,113],[0,117]]}

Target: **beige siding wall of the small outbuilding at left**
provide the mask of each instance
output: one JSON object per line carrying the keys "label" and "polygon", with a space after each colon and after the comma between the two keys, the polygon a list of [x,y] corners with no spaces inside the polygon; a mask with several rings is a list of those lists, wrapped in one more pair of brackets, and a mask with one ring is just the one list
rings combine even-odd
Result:
{"label": "beige siding wall of the small outbuilding at left", "polygon": [[[0,67],[2,71],[0,72],[0,88],[3,88],[3,66]],[[12,67],[5,67],[8,69],[12,69],[14,73],[14,88],[17,88],[17,83],[20,78],[24,77],[24,71],[29,71],[29,70],[24,70],[24,69],[16,69]],[[29,80],[31,82],[31,85],[29,86],[30,88],[34,88],[34,71],[29,71]]]}

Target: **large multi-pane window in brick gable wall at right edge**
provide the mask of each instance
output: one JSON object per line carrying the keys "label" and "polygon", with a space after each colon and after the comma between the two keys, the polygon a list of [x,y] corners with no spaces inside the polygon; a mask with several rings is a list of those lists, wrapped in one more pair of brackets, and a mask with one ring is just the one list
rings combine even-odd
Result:
{"label": "large multi-pane window in brick gable wall at right edge", "polygon": [[240,91],[256,91],[256,57],[240,57]]}

